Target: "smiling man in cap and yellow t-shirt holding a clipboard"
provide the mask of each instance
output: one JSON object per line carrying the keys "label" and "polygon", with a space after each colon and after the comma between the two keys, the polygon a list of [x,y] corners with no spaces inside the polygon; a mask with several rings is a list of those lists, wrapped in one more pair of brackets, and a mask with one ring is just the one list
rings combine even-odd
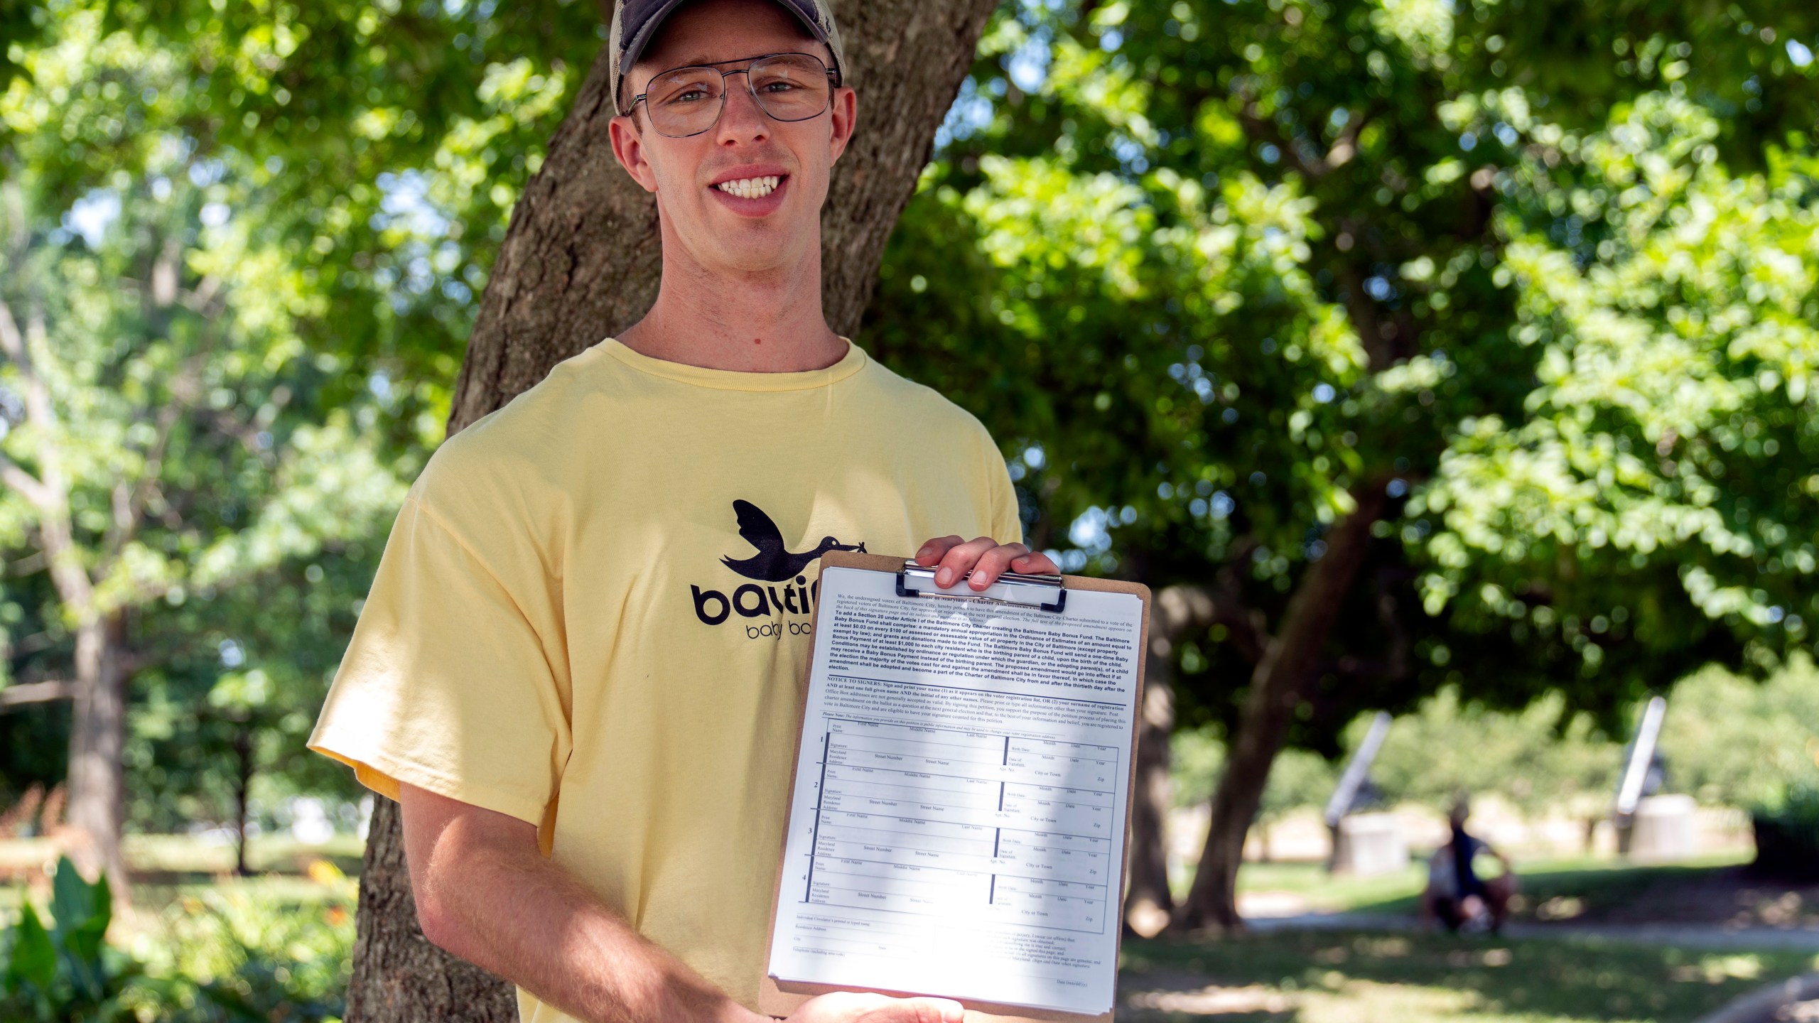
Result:
{"label": "smiling man in cap and yellow t-shirt holding a clipboard", "polygon": [[524,1019],[749,1021],[813,562],[915,550],[975,588],[1055,566],[1015,542],[984,428],[822,315],[857,109],[824,2],[620,0],[609,46],[658,299],[437,451],[311,746],[398,797],[424,934],[515,981]]}

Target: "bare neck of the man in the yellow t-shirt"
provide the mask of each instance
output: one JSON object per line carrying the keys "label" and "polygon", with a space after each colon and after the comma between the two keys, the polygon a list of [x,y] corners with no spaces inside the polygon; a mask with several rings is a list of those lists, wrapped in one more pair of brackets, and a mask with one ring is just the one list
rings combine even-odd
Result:
{"label": "bare neck of the man in the yellow t-shirt", "polygon": [[662,359],[740,373],[826,370],[846,342],[820,308],[820,251],[795,268],[764,273],[713,271],[664,246],[657,302],[620,344]]}

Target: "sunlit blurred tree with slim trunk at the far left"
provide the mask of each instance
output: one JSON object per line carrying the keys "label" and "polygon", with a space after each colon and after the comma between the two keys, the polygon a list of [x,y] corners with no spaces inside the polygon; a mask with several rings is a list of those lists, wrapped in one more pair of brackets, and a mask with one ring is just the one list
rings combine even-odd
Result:
{"label": "sunlit blurred tree with slim trunk at the far left", "polygon": [[[282,162],[118,116],[122,96],[156,104],[182,87],[167,55],[104,38],[98,11],[73,15],[58,46],[22,66],[31,84],[7,91],[0,155],[0,521],[22,579],[5,604],[9,692],[73,703],[69,837],[87,870],[111,868],[118,896],[133,679],[156,672],[175,703],[256,730],[278,692],[256,663],[233,668],[251,646],[293,679],[311,655],[275,646],[313,637],[298,619],[260,621],[282,604],[255,588],[293,562],[320,581],[318,555],[357,553],[369,572],[407,466],[382,453],[387,402],[338,393],[337,353],[298,329],[327,304],[286,249],[291,211],[271,187]],[[73,160],[95,187],[69,200],[58,184]],[[337,612],[346,630],[346,601]],[[196,672],[198,646],[213,670]],[[324,670],[284,690],[289,721],[269,719],[293,743]],[[173,686],[180,675],[187,688]],[[238,759],[244,781],[251,759]]]}

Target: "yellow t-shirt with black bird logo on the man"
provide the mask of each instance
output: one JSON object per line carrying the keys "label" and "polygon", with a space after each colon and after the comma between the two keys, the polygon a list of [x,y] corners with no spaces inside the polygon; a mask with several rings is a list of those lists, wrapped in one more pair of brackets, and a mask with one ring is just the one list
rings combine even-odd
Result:
{"label": "yellow t-shirt with black bird logo on the man", "polygon": [[948,533],[1020,539],[1004,459],[857,346],[731,373],[606,340],[429,461],[309,746],[538,825],[755,1008],[819,555]]}

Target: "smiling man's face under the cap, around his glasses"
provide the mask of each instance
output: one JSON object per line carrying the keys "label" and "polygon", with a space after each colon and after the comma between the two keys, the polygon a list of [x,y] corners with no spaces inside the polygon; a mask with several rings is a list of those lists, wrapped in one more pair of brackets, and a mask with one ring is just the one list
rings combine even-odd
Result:
{"label": "smiling man's face under the cap, around his glasses", "polygon": [[[653,76],[671,67],[729,71],[768,53],[811,53],[831,64],[828,47],[773,0],[702,0],[664,22],[626,76],[626,93],[628,98],[644,93]],[[657,193],[666,246],[682,246],[709,271],[762,273],[799,266],[819,248],[828,171],[851,138],[853,109],[853,91],[840,87],[820,116],[773,120],[751,96],[746,75],[731,75],[726,107],[713,127],[669,138],[655,131],[648,111],[638,111],[642,126],[617,116],[613,155]],[[764,197],[751,195],[762,187],[722,187],[753,178],[779,180]]]}

